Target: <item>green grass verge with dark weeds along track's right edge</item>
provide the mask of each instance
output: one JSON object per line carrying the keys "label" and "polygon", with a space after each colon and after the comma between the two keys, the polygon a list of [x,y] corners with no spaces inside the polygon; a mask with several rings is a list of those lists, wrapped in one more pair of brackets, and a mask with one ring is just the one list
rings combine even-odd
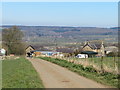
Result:
{"label": "green grass verge with dark weeds along track's right edge", "polygon": [[76,72],[77,74],[79,74],[81,76],[90,78],[90,79],[95,80],[104,85],[117,87],[117,88],[119,87],[118,86],[119,75],[115,75],[115,74],[108,73],[108,72],[99,73],[92,66],[83,67],[83,65],[74,64],[74,63],[68,62],[66,60],[55,59],[55,58],[50,58],[50,57],[39,57],[39,58],[41,58],[43,60],[47,60],[47,61],[55,63],[55,64],[58,64],[58,65],[65,67],[73,72]]}

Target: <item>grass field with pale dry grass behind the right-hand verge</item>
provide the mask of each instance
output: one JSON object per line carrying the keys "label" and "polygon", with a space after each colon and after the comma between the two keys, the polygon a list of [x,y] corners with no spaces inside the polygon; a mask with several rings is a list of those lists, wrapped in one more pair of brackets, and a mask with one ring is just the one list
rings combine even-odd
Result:
{"label": "grass field with pale dry grass behind the right-hand verge", "polygon": [[103,61],[101,63],[101,57],[93,57],[93,58],[62,58],[63,60],[73,60],[76,63],[80,63],[82,65],[87,66],[93,66],[96,69],[101,70],[101,65],[103,66],[103,69],[107,72],[111,73],[118,73],[118,57],[103,57]]}

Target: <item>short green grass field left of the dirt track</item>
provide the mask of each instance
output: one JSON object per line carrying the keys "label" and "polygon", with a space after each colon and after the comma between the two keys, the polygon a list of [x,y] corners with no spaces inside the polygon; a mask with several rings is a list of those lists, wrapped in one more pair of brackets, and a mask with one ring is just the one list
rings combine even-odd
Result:
{"label": "short green grass field left of the dirt track", "polygon": [[32,64],[25,58],[2,61],[2,88],[43,88]]}

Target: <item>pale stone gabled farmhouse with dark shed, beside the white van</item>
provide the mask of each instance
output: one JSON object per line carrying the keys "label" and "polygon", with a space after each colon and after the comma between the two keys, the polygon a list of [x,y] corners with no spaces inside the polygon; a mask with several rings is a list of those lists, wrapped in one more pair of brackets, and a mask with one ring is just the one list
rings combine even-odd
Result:
{"label": "pale stone gabled farmhouse with dark shed, beside the white van", "polygon": [[84,46],[81,49],[82,54],[88,55],[98,55],[104,56],[105,55],[105,47],[103,42],[85,42]]}

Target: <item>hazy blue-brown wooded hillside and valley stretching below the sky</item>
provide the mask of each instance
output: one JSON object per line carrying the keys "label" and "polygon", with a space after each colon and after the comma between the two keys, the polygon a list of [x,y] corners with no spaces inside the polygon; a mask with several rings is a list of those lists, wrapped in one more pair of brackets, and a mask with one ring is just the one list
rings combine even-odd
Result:
{"label": "hazy blue-brown wooded hillside and valley stretching below the sky", "polygon": [[[9,28],[11,26],[3,26]],[[61,27],[61,26],[18,26],[25,34],[27,42],[71,43],[86,40],[117,42],[118,28]],[[55,41],[56,40],[56,41]]]}

